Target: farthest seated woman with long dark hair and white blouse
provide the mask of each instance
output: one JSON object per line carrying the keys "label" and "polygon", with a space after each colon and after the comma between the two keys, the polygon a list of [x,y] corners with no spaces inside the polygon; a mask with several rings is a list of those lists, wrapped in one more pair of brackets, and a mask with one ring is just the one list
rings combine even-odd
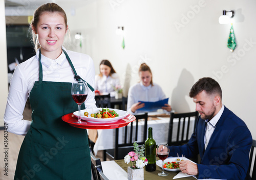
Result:
{"label": "farthest seated woman with long dark hair and white blouse", "polygon": [[109,60],[102,60],[99,65],[100,73],[95,77],[95,89],[100,93],[110,93],[115,96],[114,87],[119,87],[119,76]]}

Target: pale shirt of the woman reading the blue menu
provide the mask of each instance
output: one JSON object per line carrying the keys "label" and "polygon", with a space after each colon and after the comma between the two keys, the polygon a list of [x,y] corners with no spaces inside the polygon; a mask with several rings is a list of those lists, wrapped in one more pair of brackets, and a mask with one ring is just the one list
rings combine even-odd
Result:
{"label": "pale shirt of the woman reading the blue menu", "polygon": [[155,102],[162,99],[165,99],[165,94],[159,85],[154,83],[154,86],[150,85],[146,87],[142,84],[142,82],[137,83],[129,88],[127,111],[131,114],[142,112],[140,110],[137,110],[135,113],[133,113],[131,110],[132,105],[140,100]]}

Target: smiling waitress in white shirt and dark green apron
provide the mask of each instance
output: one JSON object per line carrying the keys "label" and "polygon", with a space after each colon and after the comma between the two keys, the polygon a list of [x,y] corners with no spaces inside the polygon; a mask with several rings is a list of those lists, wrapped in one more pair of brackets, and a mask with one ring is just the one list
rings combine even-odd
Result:
{"label": "smiling waitress in white shirt and dark green apron", "polygon": [[[16,66],[4,115],[9,132],[26,135],[14,179],[91,179],[87,131],[61,117],[78,110],[71,96],[74,75],[94,87],[93,60],[62,46],[67,16],[57,4],[38,7],[31,28],[36,55]],[[28,97],[32,122],[22,115]],[[96,108],[94,92],[84,104]]]}

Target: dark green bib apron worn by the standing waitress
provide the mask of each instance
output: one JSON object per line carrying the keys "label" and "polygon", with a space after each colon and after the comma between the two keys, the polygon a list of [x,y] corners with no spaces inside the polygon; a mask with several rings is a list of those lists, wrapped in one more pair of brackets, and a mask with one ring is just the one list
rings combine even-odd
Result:
{"label": "dark green bib apron worn by the standing waitress", "polygon": [[[66,57],[77,75],[67,54]],[[20,147],[15,180],[91,180],[87,131],[61,120],[63,115],[78,110],[71,85],[42,81],[39,53],[39,81],[30,92],[32,122]]]}

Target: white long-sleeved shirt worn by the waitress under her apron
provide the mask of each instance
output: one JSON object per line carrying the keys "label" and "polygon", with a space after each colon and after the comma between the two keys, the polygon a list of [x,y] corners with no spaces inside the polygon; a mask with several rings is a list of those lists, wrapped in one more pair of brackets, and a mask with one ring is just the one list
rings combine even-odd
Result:
{"label": "white long-sleeved shirt worn by the waitress under her apron", "polygon": [[[77,74],[94,87],[95,71],[92,58],[88,55],[62,48],[68,53]],[[69,83],[75,81],[73,70],[63,52],[55,60],[41,55],[41,64],[42,81]],[[37,50],[34,57],[17,65],[12,76],[4,115],[4,121],[8,123],[9,132],[18,135],[27,134],[31,121],[23,119],[23,111],[30,91],[38,79],[39,50]],[[89,90],[88,97],[84,103],[87,108],[96,108],[94,92]]]}

